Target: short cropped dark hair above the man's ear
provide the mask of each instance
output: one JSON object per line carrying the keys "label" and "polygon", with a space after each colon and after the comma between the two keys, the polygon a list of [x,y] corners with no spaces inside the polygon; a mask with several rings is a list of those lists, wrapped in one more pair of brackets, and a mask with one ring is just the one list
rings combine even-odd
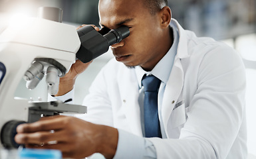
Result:
{"label": "short cropped dark hair above the man's ear", "polygon": [[162,4],[168,5],[168,0],[143,0],[146,7],[148,7],[150,14],[155,15],[162,9]]}

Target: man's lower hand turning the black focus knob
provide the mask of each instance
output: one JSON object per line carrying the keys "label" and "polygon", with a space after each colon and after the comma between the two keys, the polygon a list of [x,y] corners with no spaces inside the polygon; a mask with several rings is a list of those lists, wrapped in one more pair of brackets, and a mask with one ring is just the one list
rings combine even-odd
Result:
{"label": "man's lower hand turning the black focus knob", "polygon": [[118,143],[118,131],[112,127],[61,115],[19,125],[17,132],[17,143],[27,148],[58,149],[63,158],[84,158],[95,152],[113,158]]}

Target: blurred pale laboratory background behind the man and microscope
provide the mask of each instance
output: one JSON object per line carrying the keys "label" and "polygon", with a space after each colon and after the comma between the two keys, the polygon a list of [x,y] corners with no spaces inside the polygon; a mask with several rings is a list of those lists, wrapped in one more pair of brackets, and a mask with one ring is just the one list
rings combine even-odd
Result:
{"label": "blurred pale laboratory background behind the man and microscope", "polygon": [[[197,36],[210,36],[235,48],[243,57],[247,73],[247,125],[249,158],[256,156],[256,0],[169,0],[172,17]],[[63,23],[74,26],[98,26],[98,0],[0,0],[0,34],[14,15],[37,17],[39,7],[63,9]],[[19,27],[19,19],[15,21]],[[51,38],[51,37],[49,37]],[[112,58],[109,52],[100,56],[78,77],[74,103],[81,104],[98,71]],[[47,100],[47,87],[41,82],[34,91],[21,81],[15,94]]]}

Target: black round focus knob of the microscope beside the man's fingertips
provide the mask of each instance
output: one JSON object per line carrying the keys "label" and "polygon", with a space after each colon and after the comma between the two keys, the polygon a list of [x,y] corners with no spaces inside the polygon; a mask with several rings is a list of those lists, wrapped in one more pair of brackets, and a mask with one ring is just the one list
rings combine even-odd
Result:
{"label": "black round focus knob of the microscope beside the man's fingertips", "polygon": [[17,144],[14,140],[15,135],[17,134],[16,128],[18,125],[26,123],[25,121],[8,121],[3,125],[1,130],[1,142],[5,148],[18,148],[19,144]]}

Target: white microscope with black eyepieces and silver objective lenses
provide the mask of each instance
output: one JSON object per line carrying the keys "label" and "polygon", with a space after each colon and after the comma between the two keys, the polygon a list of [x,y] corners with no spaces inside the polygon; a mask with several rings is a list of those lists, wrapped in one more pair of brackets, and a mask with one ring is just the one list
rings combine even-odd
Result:
{"label": "white microscope with black eyepieces and silver objective lenses", "polygon": [[114,30],[104,27],[98,32],[92,26],[76,30],[61,21],[61,9],[41,7],[37,18],[28,19],[23,26],[10,26],[0,34],[0,148],[19,146],[14,137],[22,123],[59,113],[86,113],[82,105],[14,97],[22,78],[28,89],[34,89],[45,77],[48,93],[55,95],[59,78],[76,60],[90,62],[130,34],[127,26]]}

